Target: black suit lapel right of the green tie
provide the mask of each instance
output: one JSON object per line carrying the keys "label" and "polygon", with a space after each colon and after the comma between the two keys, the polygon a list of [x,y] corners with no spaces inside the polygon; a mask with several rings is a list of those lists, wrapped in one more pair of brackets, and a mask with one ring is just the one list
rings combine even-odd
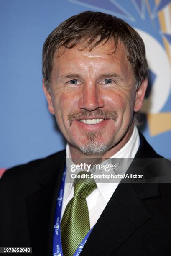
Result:
{"label": "black suit lapel right of the green tie", "polygon": [[151,217],[133,184],[120,184],[94,226],[82,256],[111,255]]}

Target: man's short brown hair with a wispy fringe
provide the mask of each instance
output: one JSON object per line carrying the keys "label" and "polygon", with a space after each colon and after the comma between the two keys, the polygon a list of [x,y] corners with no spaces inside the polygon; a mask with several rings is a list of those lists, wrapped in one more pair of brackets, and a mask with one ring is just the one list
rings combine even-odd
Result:
{"label": "man's short brown hair with a wispy fringe", "polygon": [[47,89],[50,91],[51,71],[56,50],[61,46],[72,48],[84,39],[86,42],[84,49],[90,47],[91,51],[100,42],[107,41],[109,38],[114,39],[115,49],[118,40],[123,42],[127,58],[133,68],[135,88],[138,89],[148,75],[142,38],[120,18],[93,11],[79,13],[65,20],[46,39],[43,45],[42,72]]}

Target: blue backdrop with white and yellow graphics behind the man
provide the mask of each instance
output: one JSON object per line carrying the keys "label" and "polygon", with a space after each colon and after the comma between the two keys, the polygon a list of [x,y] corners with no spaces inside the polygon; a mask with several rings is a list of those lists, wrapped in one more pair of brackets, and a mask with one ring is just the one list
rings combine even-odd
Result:
{"label": "blue backdrop with white and yellow graphics behind the man", "polygon": [[[65,147],[64,138],[56,128],[54,118],[48,113],[43,95],[41,52],[46,37],[59,23],[85,10],[100,10],[117,15],[138,31],[145,31],[147,44],[149,40],[154,40],[156,46],[153,48],[158,47],[161,61],[166,64],[160,63],[158,59],[153,61],[153,56],[158,58],[158,54],[154,53],[150,57],[150,90],[159,87],[157,79],[164,81],[160,73],[167,72],[168,75],[164,75],[167,81],[163,84],[158,80],[162,90],[156,90],[161,99],[156,96],[157,92],[152,93],[150,90],[146,95],[147,102],[150,99],[153,108],[149,112],[144,109],[145,121],[141,130],[159,154],[170,158],[171,81],[168,65],[171,31],[168,21],[164,21],[164,27],[162,20],[162,17],[171,17],[171,13],[167,17],[165,15],[166,8],[171,10],[170,4],[166,0],[161,3],[157,0],[0,0],[0,167],[8,168],[45,157]],[[148,40],[148,36],[151,39]],[[162,51],[166,55],[165,59],[162,59]],[[153,62],[156,61],[158,67],[166,67],[163,72],[155,72],[156,63]],[[162,68],[159,70],[162,71]],[[150,93],[156,97],[154,102]],[[147,112],[150,115],[146,115]]]}

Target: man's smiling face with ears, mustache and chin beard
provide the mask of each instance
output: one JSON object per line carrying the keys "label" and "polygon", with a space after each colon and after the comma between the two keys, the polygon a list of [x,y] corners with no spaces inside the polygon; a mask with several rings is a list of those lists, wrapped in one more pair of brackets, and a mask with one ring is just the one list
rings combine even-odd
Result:
{"label": "man's smiling face with ears, mustache and chin beard", "polygon": [[[100,154],[123,140],[142,106],[145,86],[135,81],[125,47],[109,40],[89,51],[81,45],[54,58],[49,110],[72,147]],[[143,88],[143,89],[142,89]]]}

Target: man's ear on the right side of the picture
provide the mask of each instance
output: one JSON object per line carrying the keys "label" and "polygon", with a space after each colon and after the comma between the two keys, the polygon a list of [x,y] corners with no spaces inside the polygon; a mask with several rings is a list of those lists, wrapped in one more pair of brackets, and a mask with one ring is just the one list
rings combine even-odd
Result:
{"label": "man's ear on the right side of the picture", "polygon": [[143,100],[147,89],[148,80],[147,78],[142,82],[138,90],[136,91],[134,111],[138,112],[143,106]]}

